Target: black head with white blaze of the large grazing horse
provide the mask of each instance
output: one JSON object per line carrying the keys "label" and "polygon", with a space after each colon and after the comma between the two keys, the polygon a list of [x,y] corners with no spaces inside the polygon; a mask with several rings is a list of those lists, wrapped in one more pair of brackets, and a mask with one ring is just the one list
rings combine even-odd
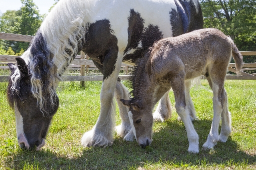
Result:
{"label": "black head with white blaze of the large grazing horse", "polygon": [[[17,66],[8,63],[11,70],[7,87],[7,98],[15,111],[16,134],[18,145],[22,149],[39,150],[45,145],[45,137],[52,116],[58,108],[58,98],[53,103],[41,108],[31,92],[29,69],[25,61],[17,57]],[[44,101],[49,100],[47,92],[42,91]]]}

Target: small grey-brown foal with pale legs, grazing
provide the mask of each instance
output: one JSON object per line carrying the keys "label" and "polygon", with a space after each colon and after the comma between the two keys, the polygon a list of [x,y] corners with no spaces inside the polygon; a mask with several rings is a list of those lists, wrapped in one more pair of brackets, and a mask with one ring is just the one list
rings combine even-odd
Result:
{"label": "small grey-brown foal with pale legs, grazing", "polygon": [[[190,120],[187,82],[205,75],[213,91],[213,120],[204,149],[211,149],[217,141],[226,142],[231,133],[230,113],[224,80],[233,55],[237,72],[242,68],[242,55],[231,38],[217,29],[200,29],[176,37],[164,38],[148,49],[144,58],[136,61],[130,100],[121,100],[129,108],[130,123],[141,147],[151,143],[152,110],[162,95],[172,88],[175,108],[184,123],[188,152],[198,153],[198,135]],[[188,83],[189,84],[189,83]],[[221,118],[221,132],[218,127]]]}

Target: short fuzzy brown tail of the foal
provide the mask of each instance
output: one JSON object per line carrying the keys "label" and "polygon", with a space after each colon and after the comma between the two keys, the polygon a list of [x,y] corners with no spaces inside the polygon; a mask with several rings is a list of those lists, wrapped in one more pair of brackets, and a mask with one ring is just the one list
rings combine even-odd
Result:
{"label": "short fuzzy brown tail of the foal", "polygon": [[241,70],[242,65],[243,65],[242,54],[237,49],[233,40],[230,37],[228,37],[228,39],[229,39],[229,41],[232,45],[232,56],[233,56],[233,59],[234,59],[234,62],[235,62],[236,74],[240,74],[240,70]]}

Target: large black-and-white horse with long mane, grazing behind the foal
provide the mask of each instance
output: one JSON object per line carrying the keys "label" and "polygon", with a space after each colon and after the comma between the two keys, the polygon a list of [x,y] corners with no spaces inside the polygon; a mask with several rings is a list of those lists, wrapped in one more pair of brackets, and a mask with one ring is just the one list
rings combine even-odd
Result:
{"label": "large black-and-white horse with long mane, grazing behind the foal", "polygon": [[[99,117],[81,144],[111,145],[113,97],[129,99],[127,89],[117,81],[121,62],[135,62],[156,40],[199,28],[202,13],[197,0],[60,0],[29,48],[16,58],[17,65],[8,64],[7,98],[15,111],[19,146],[39,150],[45,145],[58,108],[56,87],[79,51],[103,74]],[[122,120],[117,134],[131,140],[128,111],[119,100],[117,103]]]}

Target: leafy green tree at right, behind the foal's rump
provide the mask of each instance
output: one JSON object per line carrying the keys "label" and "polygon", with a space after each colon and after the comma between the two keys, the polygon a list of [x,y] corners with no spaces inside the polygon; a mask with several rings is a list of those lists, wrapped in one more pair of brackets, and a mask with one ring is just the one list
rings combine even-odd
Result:
{"label": "leafy green tree at right, behind the foal's rump", "polygon": [[239,49],[255,50],[255,0],[199,0],[204,27],[214,27],[229,35]]}

